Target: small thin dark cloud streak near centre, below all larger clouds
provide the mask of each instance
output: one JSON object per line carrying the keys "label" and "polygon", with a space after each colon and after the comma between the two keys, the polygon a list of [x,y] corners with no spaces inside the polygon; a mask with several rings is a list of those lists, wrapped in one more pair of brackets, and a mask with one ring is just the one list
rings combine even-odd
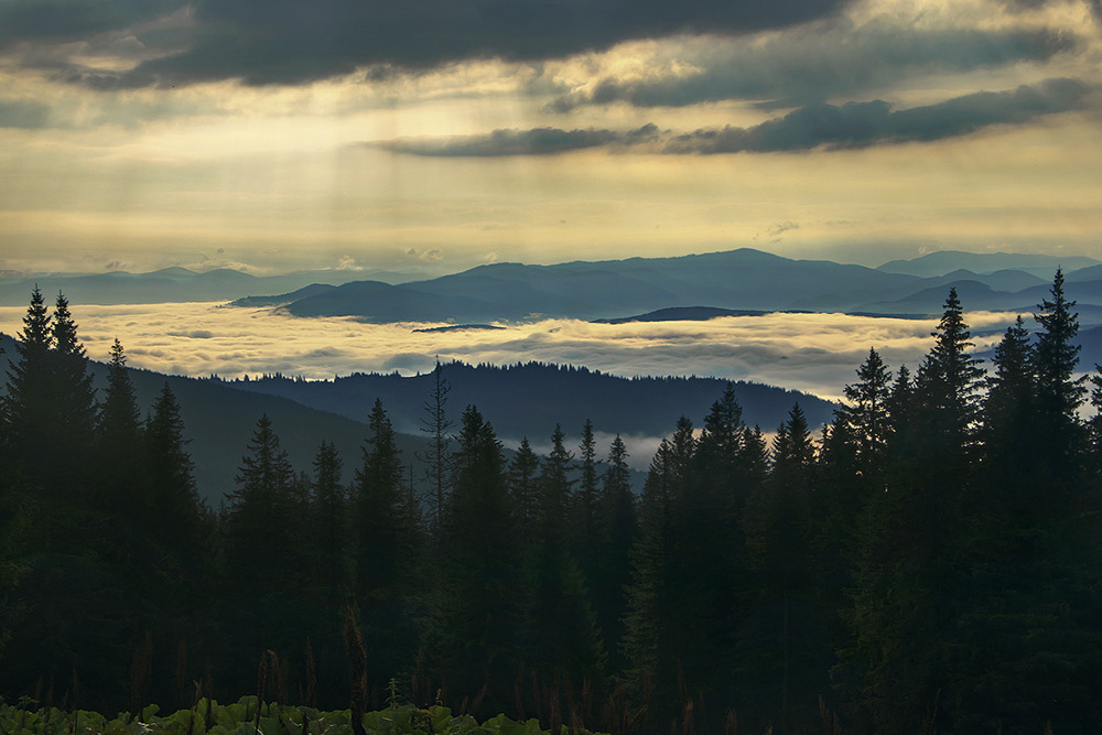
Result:
{"label": "small thin dark cloud streak near centre, below all larger clouds", "polygon": [[390,141],[379,148],[412,155],[452,158],[494,158],[503,155],[554,155],[586,148],[634,145],[656,140],[659,130],[653,125],[623,132],[616,130],[495,130],[488,136],[446,138],[443,140]]}

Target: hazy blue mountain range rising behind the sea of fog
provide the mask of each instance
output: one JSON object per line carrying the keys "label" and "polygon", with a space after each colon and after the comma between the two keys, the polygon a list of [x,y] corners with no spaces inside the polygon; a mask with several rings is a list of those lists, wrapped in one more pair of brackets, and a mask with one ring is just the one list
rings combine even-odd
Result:
{"label": "hazy blue mountain range rising behind the sea of fog", "polygon": [[[555,266],[494,263],[430,280],[314,284],[263,301],[234,303],[278,305],[295,316],[354,316],[374,323],[540,316],[615,321],[684,309],[937,315],[949,289],[957,288],[969,311],[1025,314],[1048,295],[1052,275],[1066,263],[1066,293],[1079,301],[1083,323],[1102,323],[1102,263],[1096,260],[952,251],[880,268],[793,260],[745,248]],[[941,269],[948,270],[937,273]]]}

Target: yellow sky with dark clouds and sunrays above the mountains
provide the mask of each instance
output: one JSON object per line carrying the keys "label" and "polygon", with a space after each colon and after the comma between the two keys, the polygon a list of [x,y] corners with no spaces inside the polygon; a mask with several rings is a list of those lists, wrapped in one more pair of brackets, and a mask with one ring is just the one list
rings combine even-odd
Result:
{"label": "yellow sky with dark clouds and sunrays above the mountains", "polygon": [[0,271],[1102,255],[1099,0],[0,0]]}

